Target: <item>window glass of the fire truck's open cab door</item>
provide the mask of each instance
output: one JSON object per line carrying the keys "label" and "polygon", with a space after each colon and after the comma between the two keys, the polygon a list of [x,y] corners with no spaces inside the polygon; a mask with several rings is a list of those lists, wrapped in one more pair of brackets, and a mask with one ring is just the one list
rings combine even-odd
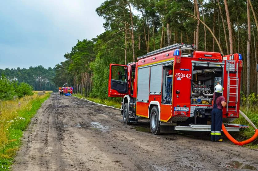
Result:
{"label": "window glass of the fire truck's open cab door", "polygon": [[127,70],[123,66],[112,66],[111,79],[127,82]]}

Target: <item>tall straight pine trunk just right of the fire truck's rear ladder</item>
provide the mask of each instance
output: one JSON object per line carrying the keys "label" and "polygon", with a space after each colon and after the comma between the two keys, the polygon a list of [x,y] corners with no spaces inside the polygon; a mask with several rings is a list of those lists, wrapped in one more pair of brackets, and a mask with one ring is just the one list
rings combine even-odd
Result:
{"label": "tall straight pine trunk just right of the fire truck's rear ladder", "polygon": [[247,39],[247,76],[246,76],[246,96],[250,94],[250,44],[251,44],[251,18],[250,18],[250,6],[249,1],[247,1],[247,30],[248,30],[248,39]]}

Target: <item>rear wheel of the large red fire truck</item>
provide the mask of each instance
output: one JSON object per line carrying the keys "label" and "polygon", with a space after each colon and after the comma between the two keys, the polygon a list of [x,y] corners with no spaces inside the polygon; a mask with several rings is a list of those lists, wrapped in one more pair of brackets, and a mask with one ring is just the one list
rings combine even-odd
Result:
{"label": "rear wheel of the large red fire truck", "polygon": [[154,106],[150,114],[150,127],[154,135],[160,134],[159,108]]}

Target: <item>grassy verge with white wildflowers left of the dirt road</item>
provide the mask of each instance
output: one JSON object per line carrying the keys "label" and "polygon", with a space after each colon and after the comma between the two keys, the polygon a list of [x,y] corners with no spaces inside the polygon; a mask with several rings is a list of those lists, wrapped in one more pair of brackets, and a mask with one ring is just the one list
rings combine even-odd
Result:
{"label": "grassy verge with white wildflowers left of the dirt road", "polygon": [[[50,93],[43,96],[26,96],[0,103],[0,170],[9,170],[13,157],[21,145],[22,131]],[[18,104],[20,103],[20,107]]]}

